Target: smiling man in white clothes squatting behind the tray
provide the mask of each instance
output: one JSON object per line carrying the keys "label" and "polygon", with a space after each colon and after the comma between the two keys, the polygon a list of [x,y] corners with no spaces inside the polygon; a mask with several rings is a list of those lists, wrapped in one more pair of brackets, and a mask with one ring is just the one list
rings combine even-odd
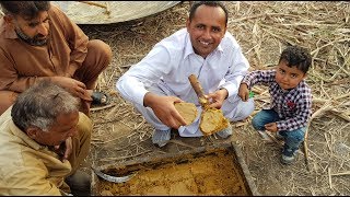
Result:
{"label": "smiling man in white clothes squatting behind the tray", "polygon": [[[160,147],[171,138],[171,128],[182,137],[200,137],[201,107],[188,77],[195,74],[210,106],[221,108],[226,118],[236,121],[254,111],[254,102],[237,96],[240,83],[249,63],[235,38],[226,32],[228,11],[221,2],[199,1],[192,4],[186,28],[158,43],[137,65],[117,81],[116,88],[154,126],[152,141]],[[186,123],[174,103],[195,103],[199,115]],[[231,125],[218,135],[232,135]]]}

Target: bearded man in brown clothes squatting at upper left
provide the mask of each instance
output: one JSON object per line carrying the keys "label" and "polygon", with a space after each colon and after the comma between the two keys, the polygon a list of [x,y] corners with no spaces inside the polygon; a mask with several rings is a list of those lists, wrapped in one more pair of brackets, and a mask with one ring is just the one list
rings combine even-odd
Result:
{"label": "bearded man in brown clothes squatting at upper left", "polygon": [[89,40],[49,1],[0,4],[4,13],[0,19],[0,115],[20,93],[44,79],[81,99],[81,112],[86,115],[92,101],[105,102],[106,95],[93,90],[98,74],[112,60],[108,45]]}

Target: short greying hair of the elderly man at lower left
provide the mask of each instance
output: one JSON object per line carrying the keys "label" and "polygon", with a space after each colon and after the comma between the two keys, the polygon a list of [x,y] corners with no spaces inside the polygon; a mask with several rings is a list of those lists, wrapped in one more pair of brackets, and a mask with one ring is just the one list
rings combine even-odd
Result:
{"label": "short greying hair of the elderly man at lower left", "polygon": [[44,80],[19,95],[13,104],[13,123],[22,130],[34,126],[43,131],[56,121],[60,114],[78,112],[80,100],[63,88]]}

